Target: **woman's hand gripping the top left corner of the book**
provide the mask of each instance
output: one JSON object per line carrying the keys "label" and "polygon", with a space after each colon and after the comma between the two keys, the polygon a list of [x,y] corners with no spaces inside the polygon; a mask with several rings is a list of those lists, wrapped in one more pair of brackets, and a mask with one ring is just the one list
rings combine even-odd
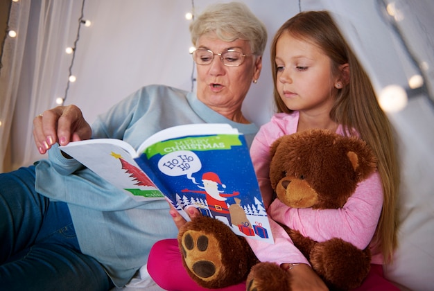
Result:
{"label": "woman's hand gripping the top left corner of the book", "polygon": [[90,139],[91,136],[92,129],[76,105],[46,110],[33,120],[33,139],[41,154],[56,142],[67,145],[70,141]]}

